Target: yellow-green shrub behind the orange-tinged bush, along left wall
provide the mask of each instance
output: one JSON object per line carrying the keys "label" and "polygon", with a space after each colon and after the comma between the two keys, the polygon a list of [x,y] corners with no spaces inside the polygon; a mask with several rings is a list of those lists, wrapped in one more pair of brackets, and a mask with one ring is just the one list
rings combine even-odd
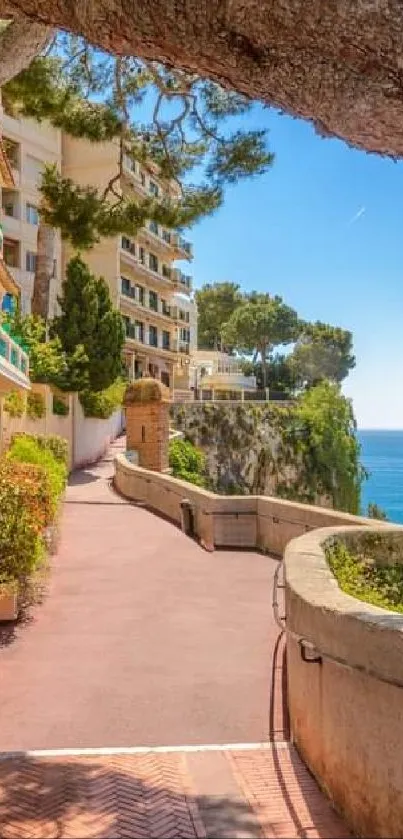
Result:
{"label": "yellow-green shrub behind the orange-tinged bush, along left wall", "polygon": [[52,517],[57,513],[60,496],[63,494],[67,482],[67,467],[57,460],[52,451],[43,448],[35,439],[28,435],[18,435],[14,438],[8,452],[7,459],[17,463],[31,463],[41,466],[46,472],[49,482]]}

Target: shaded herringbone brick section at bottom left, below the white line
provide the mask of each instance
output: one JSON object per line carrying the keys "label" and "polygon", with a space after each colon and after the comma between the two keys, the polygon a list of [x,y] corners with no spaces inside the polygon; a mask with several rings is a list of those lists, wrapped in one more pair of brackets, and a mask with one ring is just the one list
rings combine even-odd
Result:
{"label": "shaded herringbone brick section at bottom left, below the white line", "polygon": [[204,837],[181,755],[10,758],[0,763],[2,839]]}

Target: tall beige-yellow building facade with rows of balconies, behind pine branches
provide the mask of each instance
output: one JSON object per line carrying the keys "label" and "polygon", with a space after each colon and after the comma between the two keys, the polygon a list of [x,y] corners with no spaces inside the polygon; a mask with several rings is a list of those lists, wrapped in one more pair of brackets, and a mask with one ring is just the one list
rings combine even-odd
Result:
{"label": "tall beige-yellow building facade with rows of balconies, behind pine branches", "polygon": [[[62,138],[62,171],[80,185],[103,190],[118,171],[114,143],[90,144]],[[123,174],[115,185],[123,194],[178,197],[177,185],[166,187],[158,173],[150,174],[125,158]],[[71,251],[63,249],[64,268]],[[115,236],[85,254],[90,269],[108,282],[114,305],[123,316],[126,341],[124,360],[131,379],[153,376],[174,388],[175,378],[186,381],[188,360],[196,340],[192,280],[174,264],[191,260],[190,243],[176,231],[148,222],[135,238]],[[194,311],[193,311],[194,309]]]}

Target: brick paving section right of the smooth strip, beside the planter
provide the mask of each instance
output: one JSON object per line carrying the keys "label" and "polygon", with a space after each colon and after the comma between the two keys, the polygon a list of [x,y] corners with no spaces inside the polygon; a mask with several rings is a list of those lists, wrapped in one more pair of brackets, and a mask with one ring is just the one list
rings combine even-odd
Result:
{"label": "brick paving section right of the smooth strip, beside the planter", "polygon": [[291,744],[227,757],[265,839],[351,839]]}

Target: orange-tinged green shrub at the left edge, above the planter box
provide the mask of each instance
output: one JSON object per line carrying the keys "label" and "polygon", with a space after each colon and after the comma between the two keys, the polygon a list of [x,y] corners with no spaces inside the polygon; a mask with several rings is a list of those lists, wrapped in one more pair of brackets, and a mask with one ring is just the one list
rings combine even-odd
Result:
{"label": "orange-tinged green shrub at the left edge, above the planter box", "polygon": [[0,462],[0,584],[22,583],[44,556],[46,515],[38,467]]}

